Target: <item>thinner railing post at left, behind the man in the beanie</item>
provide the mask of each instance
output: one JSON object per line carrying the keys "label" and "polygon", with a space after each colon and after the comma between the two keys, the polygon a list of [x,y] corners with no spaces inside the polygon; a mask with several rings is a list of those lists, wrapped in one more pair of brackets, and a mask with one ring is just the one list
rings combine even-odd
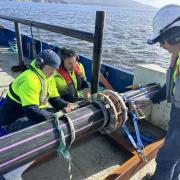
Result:
{"label": "thinner railing post at left, behind the man in the beanie", "polygon": [[17,22],[14,22],[15,32],[16,32],[16,43],[18,47],[18,56],[19,56],[19,66],[24,65],[23,61],[23,50],[22,50],[22,41],[21,41],[21,34],[20,34],[20,25]]}

